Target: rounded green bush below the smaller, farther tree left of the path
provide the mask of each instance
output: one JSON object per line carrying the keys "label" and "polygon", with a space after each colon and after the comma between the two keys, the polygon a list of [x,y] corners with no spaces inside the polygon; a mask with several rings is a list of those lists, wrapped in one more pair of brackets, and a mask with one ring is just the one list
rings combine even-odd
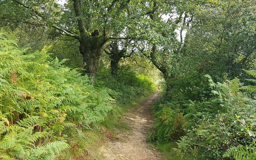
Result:
{"label": "rounded green bush below the smaller, farther tree left of the path", "polygon": [[110,68],[100,69],[96,78],[96,85],[113,90],[114,92],[109,94],[120,104],[126,104],[138,96],[153,92],[156,87],[147,76],[137,74],[130,68],[119,69],[117,77],[111,76]]}

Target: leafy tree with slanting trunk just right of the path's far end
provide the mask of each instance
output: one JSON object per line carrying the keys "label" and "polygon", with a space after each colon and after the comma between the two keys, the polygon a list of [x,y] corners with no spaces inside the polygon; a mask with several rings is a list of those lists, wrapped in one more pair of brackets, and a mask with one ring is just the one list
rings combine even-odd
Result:
{"label": "leafy tree with slanting trunk just right of the path's far end", "polygon": [[[193,20],[193,12],[198,3],[189,3],[180,6],[183,2],[173,1],[167,3],[168,9],[162,9],[157,3],[151,4],[148,12],[148,25],[151,36],[148,36],[140,46],[141,53],[147,57],[159,71],[167,84],[167,92],[172,88],[170,84],[174,78],[173,68],[180,59],[180,49],[183,46],[183,30],[190,27]],[[192,7],[191,7],[192,6]],[[195,8],[194,8],[195,7]],[[180,29],[179,34],[177,30]],[[180,37],[180,41],[179,41]]]}

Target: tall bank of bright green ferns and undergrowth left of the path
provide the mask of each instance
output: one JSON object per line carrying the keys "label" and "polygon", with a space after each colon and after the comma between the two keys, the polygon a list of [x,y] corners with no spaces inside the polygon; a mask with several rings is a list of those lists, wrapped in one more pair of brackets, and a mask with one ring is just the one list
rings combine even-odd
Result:
{"label": "tall bank of bright green ferns and undergrowth left of the path", "polygon": [[[50,58],[49,47],[28,53],[30,48],[19,48],[5,35],[0,33],[1,159],[85,159],[104,137],[102,126],[127,129],[117,123],[122,104],[153,91],[149,81],[143,89],[147,80],[139,75],[130,87],[119,83],[118,91],[101,82],[92,85],[63,66],[65,60]],[[134,94],[126,99],[129,92]]]}

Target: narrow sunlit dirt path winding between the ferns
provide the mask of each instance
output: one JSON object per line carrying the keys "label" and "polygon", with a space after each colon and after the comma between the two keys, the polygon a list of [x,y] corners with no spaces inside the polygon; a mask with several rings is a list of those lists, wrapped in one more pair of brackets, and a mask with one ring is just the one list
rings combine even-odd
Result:
{"label": "narrow sunlit dirt path winding between the ferns", "polygon": [[[132,130],[119,133],[119,140],[108,141],[100,150],[107,160],[159,160],[160,154],[149,149],[147,138],[150,126],[154,123],[151,113],[152,101],[159,95],[155,92],[140,103],[139,109],[131,109],[124,116],[124,123]],[[120,135],[121,134],[121,135]]]}

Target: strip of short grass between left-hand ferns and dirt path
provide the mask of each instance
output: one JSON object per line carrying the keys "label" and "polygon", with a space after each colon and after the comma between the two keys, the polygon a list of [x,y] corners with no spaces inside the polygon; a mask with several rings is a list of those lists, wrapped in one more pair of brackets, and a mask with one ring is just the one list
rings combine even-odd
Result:
{"label": "strip of short grass between left-hand ferns and dirt path", "polygon": [[74,132],[73,136],[68,138],[70,147],[62,152],[57,159],[104,159],[99,153],[100,147],[104,145],[107,139],[117,140],[116,134],[118,132],[130,130],[130,127],[121,122],[121,119],[130,108],[139,108],[140,102],[145,100],[152,92],[147,92],[145,95],[110,111],[105,120],[100,123],[98,129],[85,130],[83,133],[70,131]]}

